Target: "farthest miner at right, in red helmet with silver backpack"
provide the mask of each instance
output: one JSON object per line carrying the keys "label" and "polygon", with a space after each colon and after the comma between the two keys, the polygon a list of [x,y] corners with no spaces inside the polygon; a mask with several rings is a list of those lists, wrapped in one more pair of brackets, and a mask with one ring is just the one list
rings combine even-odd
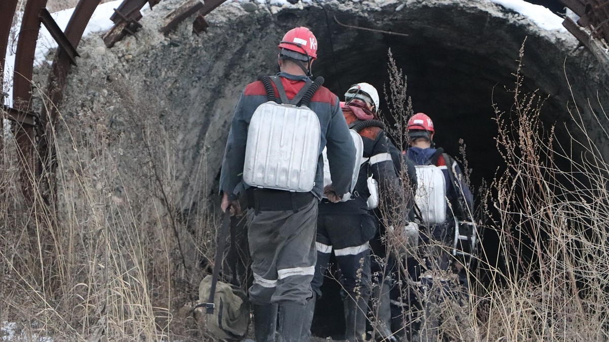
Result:
{"label": "farthest miner at right, in red helmet with silver backpack", "polygon": [[[465,183],[459,164],[447,153],[443,153],[442,148],[435,148],[435,127],[431,117],[425,113],[414,114],[410,117],[406,130],[410,148],[405,156],[414,162],[417,170],[415,212],[421,245],[420,257],[408,263],[409,277],[415,282],[420,282],[421,290],[425,289],[424,291],[428,293],[426,298],[440,296],[429,293],[429,289],[433,288],[436,291],[443,289],[446,293],[449,291],[459,293],[455,298],[461,300],[460,296],[466,296],[468,289],[464,267],[468,264],[470,255],[466,255],[463,253],[465,250],[460,250],[456,246],[458,243],[466,245],[459,240],[463,239],[466,233],[459,229],[462,229],[460,228],[462,222],[473,222],[473,196]],[[472,234],[475,238],[475,226]],[[471,252],[473,251],[468,251]],[[446,273],[452,271],[458,274],[460,284],[447,284],[449,281],[447,279],[454,277],[448,277]],[[455,290],[459,285],[462,286],[462,292]],[[392,302],[418,303],[415,305],[421,305],[422,312],[431,313],[417,319],[419,323],[409,329],[412,336],[408,337],[408,340],[437,340],[440,316],[432,313],[433,309],[430,309],[437,303],[432,303],[431,299],[420,302],[419,299],[424,296],[416,291],[406,291],[408,292],[410,298],[393,298]],[[396,310],[400,311],[399,308]],[[392,315],[398,322],[393,326],[398,335],[405,330],[401,326],[401,315],[404,314],[405,312],[400,312]]]}

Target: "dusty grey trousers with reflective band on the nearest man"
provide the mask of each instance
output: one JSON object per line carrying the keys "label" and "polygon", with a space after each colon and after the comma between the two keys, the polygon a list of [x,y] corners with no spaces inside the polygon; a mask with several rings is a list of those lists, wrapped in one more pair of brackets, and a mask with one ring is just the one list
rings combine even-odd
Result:
{"label": "dusty grey trousers with reflective band on the nearest man", "polygon": [[290,301],[304,305],[312,297],[317,203],[312,197],[298,211],[247,212],[253,304]]}

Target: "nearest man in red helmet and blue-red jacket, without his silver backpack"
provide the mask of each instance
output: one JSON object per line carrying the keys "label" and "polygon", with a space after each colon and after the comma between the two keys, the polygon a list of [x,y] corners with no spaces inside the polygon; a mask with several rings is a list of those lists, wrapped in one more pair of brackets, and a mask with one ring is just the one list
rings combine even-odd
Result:
{"label": "nearest man in red helmet and blue-red jacket, without his silver backpack", "polygon": [[[306,335],[301,334],[308,332],[308,326],[303,326],[306,325],[305,313],[308,305],[314,305],[311,280],[317,259],[317,205],[324,191],[323,148],[327,147],[334,180],[333,189],[326,194],[331,200],[339,201],[350,190],[350,170],[354,168],[350,156],[354,155],[355,147],[340,110],[339,98],[320,85],[308,105],[319,119],[319,133],[316,134],[320,140],[312,147],[317,162],[302,166],[313,168],[312,190],[282,190],[258,184],[252,186],[244,181],[245,150],[248,140],[252,140],[248,139],[248,128],[253,113],[263,103],[272,102],[267,99],[269,92],[274,92],[275,101],[290,103],[301,96],[301,91],[310,93],[311,83],[315,85],[319,80],[310,80],[311,65],[317,58],[317,39],[311,30],[306,27],[289,30],[278,49],[280,72],[270,80],[262,76],[261,80],[248,84],[236,105],[220,173],[222,211],[231,208],[231,211],[239,212],[239,194],[244,193],[248,200],[248,242],[254,278],[248,295],[253,306],[257,342],[275,341],[277,323],[280,341],[307,340]],[[280,149],[273,158],[276,163],[300,153]],[[286,174],[290,176],[300,172],[289,171]]]}

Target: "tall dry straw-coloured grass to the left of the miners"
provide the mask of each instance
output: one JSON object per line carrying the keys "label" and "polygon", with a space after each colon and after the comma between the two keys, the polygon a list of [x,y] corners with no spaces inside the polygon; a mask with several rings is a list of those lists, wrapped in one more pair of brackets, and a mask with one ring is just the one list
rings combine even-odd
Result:
{"label": "tall dry straw-coloured grass to the left of the miners", "polygon": [[[215,218],[205,206],[181,210],[177,131],[161,119],[163,97],[110,87],[129,116],[61,117],[55,192],[43,196],[49,187],[32,175],[19,180],[18,151],[6,141],[0,321],[58,341],[200,340],[189,308],[205,276],[199,265],[213,259]],[[31,201],[21,181],[34,187]]]}

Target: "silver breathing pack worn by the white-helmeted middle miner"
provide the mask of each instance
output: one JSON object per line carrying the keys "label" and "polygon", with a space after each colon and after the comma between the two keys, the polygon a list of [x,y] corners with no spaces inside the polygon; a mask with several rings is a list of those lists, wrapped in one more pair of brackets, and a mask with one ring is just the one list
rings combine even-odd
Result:
{"label": "silver breathing pack worn by the white-helmeted middle miner", "polygon": [[[367,127],[379,127],[382,130],[385,130],[385,124],[381,120],[356,120],[351,122],[349,125],[349,132],[351,133],[351,138],[353,138],[353,144],[355,145],[355,155],[353,155],[354,166],[353,166],[353,176],[351,181],[350,192],[343,195],[340,201],[344,202],[353,198],[354,188],[357,184],[357,179],[359,178],[359,173],[362,167],[370,167],[374,164],[374,160],[371,158],[364,157],[364,142],[362,141],[362,136],[359,134],[359,131],[363,130]],[[366,198],[366,204],[368,206],[368,210],[375,209],[379,203],[379,190],[378,183],[372,177],[371,172],[367,173],[366,186],[368,188],[368,197]],[[328,166],[328,157],[326,156],[326,149],[323,149],[323,186],[327,186],[332,184],[330,169]],[[361,194],[360,194],[361,195]]]}

